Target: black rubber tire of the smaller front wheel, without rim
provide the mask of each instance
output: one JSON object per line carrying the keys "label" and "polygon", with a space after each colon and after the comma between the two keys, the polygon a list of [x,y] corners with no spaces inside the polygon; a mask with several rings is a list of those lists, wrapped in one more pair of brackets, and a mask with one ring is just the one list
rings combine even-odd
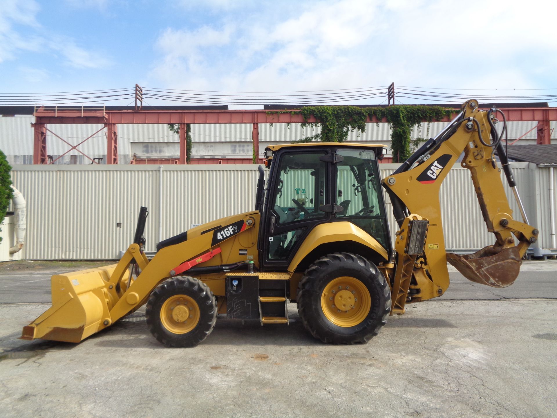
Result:
{"label": "black rubber tire of the smaller front wheel, without rim", "polygon": [[[175,294],[185,294],[196,300],[200,318],[192,331],[174,334],[160,321],[160,308],[165,300]],[[168,279],[152,291],[147,300],[145,317],[149,331],[157,341],[167,347],[194,347],[211,334],[217,322],[217,303],[209,286],[189,276]]]}

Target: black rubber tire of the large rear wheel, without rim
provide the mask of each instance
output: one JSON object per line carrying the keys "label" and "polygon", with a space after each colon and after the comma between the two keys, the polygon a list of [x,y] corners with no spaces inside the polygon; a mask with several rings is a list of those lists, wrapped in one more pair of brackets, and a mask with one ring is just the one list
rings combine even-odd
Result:
{"label": "black rubber tire of the large rear wheel, without rim", "polygon": [[[335,270],[343,269],[350,269],[352,274],[359,273],[360,277],[356,278],[364,281],[372,296],[370,314],[364,322],[351,328],[330,323],[321,310],[321,289],[331,280],[327,276],[334,276]],[[340,272],[336,276],[339,275]],[[324,343],[367,343],[387,323],[390,306],[390,288],[385,276],[373,263],[350,252],[335,252],[321,257],[309,266],[298,285],[297,307],[302,323],[313,337]]]}

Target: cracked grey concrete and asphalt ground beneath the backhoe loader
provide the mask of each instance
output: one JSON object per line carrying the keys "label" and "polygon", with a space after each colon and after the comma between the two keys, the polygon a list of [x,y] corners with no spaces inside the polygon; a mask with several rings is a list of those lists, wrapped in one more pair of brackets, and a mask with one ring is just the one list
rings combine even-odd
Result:
{"label": "cracked grey concrete and asphalt ground beneath the backhoe loader", "polygon": [[452,299],[409,305],[365,345],[316,341],[291,304],[290,326],[219,318],[191,349],[160,345],[143,309],[80,344],[19,340],[50,304],[14,302],[50,300],[52,272],[3,272],[0,415],[557,416],[557,263],[531,263],[506,289],[452,271]]}

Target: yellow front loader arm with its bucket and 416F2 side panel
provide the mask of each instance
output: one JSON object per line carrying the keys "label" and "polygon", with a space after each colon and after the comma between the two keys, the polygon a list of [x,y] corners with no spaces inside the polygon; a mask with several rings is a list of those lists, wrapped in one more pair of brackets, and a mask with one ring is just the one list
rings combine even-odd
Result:
{"label": "yellow front loader arm with its bucket and 416F2 side panel", "polygon": [[[52,276],[52,307],[23,328],[22,339],[80,342],[141,307],[153,289],[168,278],[196,269],[198,274],[214,273],[245,265],[234,256],[240,246],[237,240],[243,236],[245,244],[255,241],[253,226],[259,222],[258,212],[209,222],[160,242],[157,254],[148,260],[142,249],[146,208],[141,213],[134,243],[118,264]],[[236,263],[226,264],[230,261]],[[130,271],[133,264],[141,270],[135,280]],[[208,282],[214,294],[222,294],[223,280]]]}

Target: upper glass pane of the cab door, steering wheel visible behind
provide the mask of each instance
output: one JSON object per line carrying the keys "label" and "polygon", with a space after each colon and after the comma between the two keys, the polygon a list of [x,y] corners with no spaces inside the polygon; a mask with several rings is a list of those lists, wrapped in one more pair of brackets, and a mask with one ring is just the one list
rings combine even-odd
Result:
{"label": "upper glass pane of the cab door, steering wheel visible behind", "polygon": [[319,159],[322,155],[325,153],[282,156],[272,203],[281,225],[325,217],[319,209],[325,204],[326,190],[326,163]]}

